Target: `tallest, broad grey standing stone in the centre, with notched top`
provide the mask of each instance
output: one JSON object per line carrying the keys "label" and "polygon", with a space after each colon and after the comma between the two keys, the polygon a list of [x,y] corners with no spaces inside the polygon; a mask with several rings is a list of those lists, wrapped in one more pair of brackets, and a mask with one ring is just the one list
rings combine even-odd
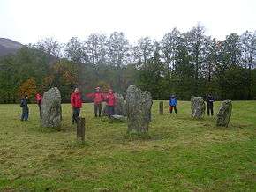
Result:
{"label": "tallest, broad grey standing stone in the centre, with notched top", "polygon": [[128,133],[147,133],[152,104],[150,92],[142,92],[135,85],[128,87],[126,91]]}

